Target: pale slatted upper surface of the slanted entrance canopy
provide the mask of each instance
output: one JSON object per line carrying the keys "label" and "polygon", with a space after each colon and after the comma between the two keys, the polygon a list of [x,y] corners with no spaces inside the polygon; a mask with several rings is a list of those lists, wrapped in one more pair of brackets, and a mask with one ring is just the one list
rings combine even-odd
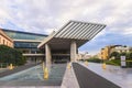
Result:
{"label": "pale slatted upper surface of the slanted entrance canopy", "polygon": [[106,25],[79,21],[69,21],[65,24],[54,37],[74,38],[74,40],[91,40]]}

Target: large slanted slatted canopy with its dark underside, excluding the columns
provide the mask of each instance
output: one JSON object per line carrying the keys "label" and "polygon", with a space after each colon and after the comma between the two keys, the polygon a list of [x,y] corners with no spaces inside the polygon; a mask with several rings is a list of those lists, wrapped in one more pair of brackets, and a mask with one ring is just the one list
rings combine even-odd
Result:
{"label": "large slanted slatted canopy with its dark underside, excluding the columns", "polygon": [[50,44],[52,50],[69,50],[73,40],[76,41],[77,47],[79,47],[105,28],[105,24],[69,21],[61,30],[45,37],[37,47],[44,48],[45,44]]}

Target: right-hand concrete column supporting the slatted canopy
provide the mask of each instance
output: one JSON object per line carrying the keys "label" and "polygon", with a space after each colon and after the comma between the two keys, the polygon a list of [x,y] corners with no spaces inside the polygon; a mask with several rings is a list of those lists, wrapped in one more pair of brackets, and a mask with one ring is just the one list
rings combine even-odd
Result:
{"label": "right-hand concrete column supporting the slatted canopy", "polygon": [[75,41],[70,44],[70,62],[76,62],[77,44]]}

